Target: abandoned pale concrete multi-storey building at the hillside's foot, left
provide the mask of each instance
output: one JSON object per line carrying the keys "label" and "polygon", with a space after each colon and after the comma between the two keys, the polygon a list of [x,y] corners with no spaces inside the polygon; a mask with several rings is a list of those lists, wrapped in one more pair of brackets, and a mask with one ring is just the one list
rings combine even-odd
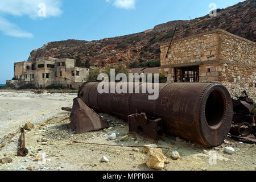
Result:
{"label": "abandoned pale concrete multi-storey building at the hillside's foot, left", "polygon": [[89,69],[75,66],[73,59],[40,57],[36,61],[14,63],[14,78],[21,85],[31,83],[35,88],[59,85],[78,89],[89,75]]}

